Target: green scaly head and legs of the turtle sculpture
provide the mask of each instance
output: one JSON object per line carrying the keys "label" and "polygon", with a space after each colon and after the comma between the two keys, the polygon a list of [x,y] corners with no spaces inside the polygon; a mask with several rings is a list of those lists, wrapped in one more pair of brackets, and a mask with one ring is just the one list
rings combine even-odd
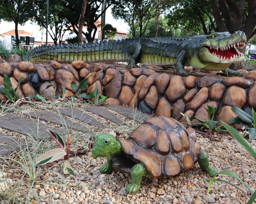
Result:
{"label": "green scaly head and legs of the turtle sculpture", "polygon": [[[104,141],[108,141],[108,143],[106,144]],[[118,154],[124,154],[124,152],[121,144],[113,135],[101,134],[96,137],[92,148],[92,157],[107,157],[106,164],[102,165],[100,168],[102,174],[109,174],[113,170],[112,158]],[[198,163],[202,170],[208,173],[211,177],[217,174],[217,170],[209,165],[209,159],[204,151],[200,150]],[[132,167],[132,181],[126,187],[128,194],[135,194],[138,192],[141,185],[141,178],[145,175],[150,175],[150,173],[147,171],[143,163],[138,162]]]}

